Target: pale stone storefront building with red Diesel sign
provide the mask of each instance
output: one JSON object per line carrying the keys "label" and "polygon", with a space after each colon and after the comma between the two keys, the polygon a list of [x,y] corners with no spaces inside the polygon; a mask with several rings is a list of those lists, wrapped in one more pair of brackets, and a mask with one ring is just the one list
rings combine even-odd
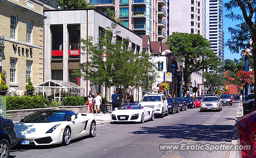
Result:
{"label": "pale stone storefront building with red Diesel sign", "polygon": [[[49,10],[45,11],[45,16],[47,18],[44,23],[44,80],[70,81],[85,88],[86,96],[95,92],[104,96],[103,86],[91,85],[89,80],[76,78],[71,73],[72,70],[79,68],[80,63],[88,59],[81,49],[80,37],[86,39],[87,36],[92,36],[94,43],[97,43],[101,30],[111,27],[115,21],[95,9]],[[120,34],[113,36],[118,40],[128,37],[129,47],[133,47],[138,53],[142,52],[140,35],[120,24],[115,30],[120,31]],[[113,90],[114,87],[107,88],[109,101]],[[134,94],[134,99],[138,98],[136,89],[131,87],[128,92]],[[141,98],[141,90],[139,95]]]}

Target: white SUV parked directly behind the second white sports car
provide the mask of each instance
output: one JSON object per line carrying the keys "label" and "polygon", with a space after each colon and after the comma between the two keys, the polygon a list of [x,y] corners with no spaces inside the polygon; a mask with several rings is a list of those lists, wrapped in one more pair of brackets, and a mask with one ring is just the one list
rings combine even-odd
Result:
{"label": "white SUV parked directly behind the second white sports car", "polygon": [[168,115],[168,103],[164,94],[146,94],[142,97],[140,105],[151,107],[154,109],[154,114],[160,115],[162,118],[164,114]]}

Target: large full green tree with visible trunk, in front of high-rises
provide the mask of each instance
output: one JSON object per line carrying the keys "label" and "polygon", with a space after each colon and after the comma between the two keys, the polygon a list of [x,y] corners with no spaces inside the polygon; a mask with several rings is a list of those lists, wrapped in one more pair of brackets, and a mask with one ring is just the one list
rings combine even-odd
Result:
{"label": "large full green tree with visible trunk, in front of high-rises", "polygon": [[215,69],[220,64],[219,58],[210,50],[210,42],[199,34],[173,32],[166,43],[178,57],[178,61],[185,64],[183,95],[188,90],[189,78],[193,72],[206,68]]}

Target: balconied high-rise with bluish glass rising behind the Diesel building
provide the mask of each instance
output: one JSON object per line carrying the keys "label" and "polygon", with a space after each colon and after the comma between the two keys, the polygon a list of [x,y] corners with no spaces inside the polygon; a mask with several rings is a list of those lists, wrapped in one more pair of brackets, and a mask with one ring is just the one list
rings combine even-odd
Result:
{"label": "balconied high-rise with bluish glass rising behind the Diesel building", "polygon": [[166,0],[90,0],[103,14],[111,8],[124,25],[151,41],[166,41]]}

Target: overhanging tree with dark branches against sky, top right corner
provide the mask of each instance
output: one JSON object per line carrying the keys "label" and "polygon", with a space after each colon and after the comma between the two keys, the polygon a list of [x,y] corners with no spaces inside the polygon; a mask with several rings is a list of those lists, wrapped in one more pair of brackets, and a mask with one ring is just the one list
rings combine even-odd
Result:
{"label": "overhanging tree with dark branches against sky, top right corner", "polygon": [[[250,48],[254,60],[254,68],[256,67],[256,24],[254,22],[254,12],[256,0],[230,0],[224,4],[229,12],[226,17],[232,20],[241,21],[240,24],[234,28],[229,27],[228,32],[231,34],[226,46],[231,53],[240,53],[241,49]],[[234,13],[234,8],[240,8],[242,15]],[[254,71],[256,76],[256,71]],[[254,82],[256,87],[256,82]],[[256,98],[256,89],[254,88],[254,98]],[[256,108],[256,99],[254,100],[254,107]]]}

